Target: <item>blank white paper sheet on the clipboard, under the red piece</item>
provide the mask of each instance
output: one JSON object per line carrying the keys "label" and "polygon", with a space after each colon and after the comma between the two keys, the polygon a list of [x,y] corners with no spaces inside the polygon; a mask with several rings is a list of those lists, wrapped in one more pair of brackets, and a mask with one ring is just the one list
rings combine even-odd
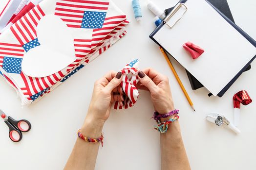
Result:
{"label": "blank white paper sheet on the clipboard, under the red piece", "polygon": [[[163,26],[154,38],[216,96],[255,56],[256,48],[205,0],[188,0],[184,16]],[[182,45],[192,42],[205,52],[192,60]]]}

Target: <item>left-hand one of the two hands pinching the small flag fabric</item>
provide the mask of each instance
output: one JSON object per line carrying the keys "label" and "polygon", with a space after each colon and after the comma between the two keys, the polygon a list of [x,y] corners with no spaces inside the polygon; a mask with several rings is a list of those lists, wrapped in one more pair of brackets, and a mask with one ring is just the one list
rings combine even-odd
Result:
{"label": "left-hand one of the two hands pinching the small flag fabric", "polygon": [[121,72],[109,71],[95,82],[86,119],[104,123],[109,117],[112,103],[118,101],[122,104],[124,94],[119,86],[122,77]]}

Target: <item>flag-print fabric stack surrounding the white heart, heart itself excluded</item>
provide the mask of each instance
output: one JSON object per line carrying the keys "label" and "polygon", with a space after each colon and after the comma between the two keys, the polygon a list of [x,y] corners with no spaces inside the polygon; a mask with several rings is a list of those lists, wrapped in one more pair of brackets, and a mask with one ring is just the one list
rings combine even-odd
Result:
{"label": "flag-print fabric stack surrounding the white heart, heart itself excluded", "polygon": [[[22,71],[22,59],[41,46],[37,27],[50,15],[60,18],[72,34],[75,61],[46,77],[31,77]],[[14,18],[0,34],[0,74],[16,89],[22,104],[38,101],[85,67],[122,38],[128,24],[111,0],[30,0]]]}

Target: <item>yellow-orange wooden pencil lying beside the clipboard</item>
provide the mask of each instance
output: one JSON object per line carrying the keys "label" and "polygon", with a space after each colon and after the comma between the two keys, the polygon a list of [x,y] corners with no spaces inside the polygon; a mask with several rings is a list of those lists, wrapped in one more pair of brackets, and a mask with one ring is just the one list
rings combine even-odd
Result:
{"label": "yellow-orange wooden pencil lying beside the clipboard", "polygon": [[172,64],[171,64],[171,61],[169,60],[169,58],[168,58],[166,52],[165,52],[161,47],[160,47],[160,50],[161,50],[162,53],[164,54],[164,57],[165,57],[165,59],[166,59],[168,65],[170,66],[170,68],[171,68],[171,70],[172,70],[172,72],[173,72],[175,78],[177,79],[177,81],[178,81],[178,83],[179,83],[179,85],[180,85],[180,87],[181,87],[181,89],[182,89],[184,95],[186,96],[188,102],[190,103],[192,109],[195,111],[194,106],[193,106],[193,102],[191,101],[191,99],[190,99],[190,97],[189,97],[189,95],[188,95],[188,93],[187,93],[187,91],[186,91],[184,85],[181,83],[180,78],[179,78],[177,72],[175,71],[175,69],[173,68],[173,66],[172,66]]}

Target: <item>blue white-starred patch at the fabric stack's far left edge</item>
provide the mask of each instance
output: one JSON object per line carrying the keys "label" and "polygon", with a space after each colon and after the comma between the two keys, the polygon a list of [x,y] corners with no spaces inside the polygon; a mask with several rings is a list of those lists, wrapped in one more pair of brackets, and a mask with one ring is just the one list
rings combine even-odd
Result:
{"label": "blue white-starred patch at the fabric stack's far left edge", "polygon": [[2,68],[8,73],[21,73],[22,58],[4,57]]}

